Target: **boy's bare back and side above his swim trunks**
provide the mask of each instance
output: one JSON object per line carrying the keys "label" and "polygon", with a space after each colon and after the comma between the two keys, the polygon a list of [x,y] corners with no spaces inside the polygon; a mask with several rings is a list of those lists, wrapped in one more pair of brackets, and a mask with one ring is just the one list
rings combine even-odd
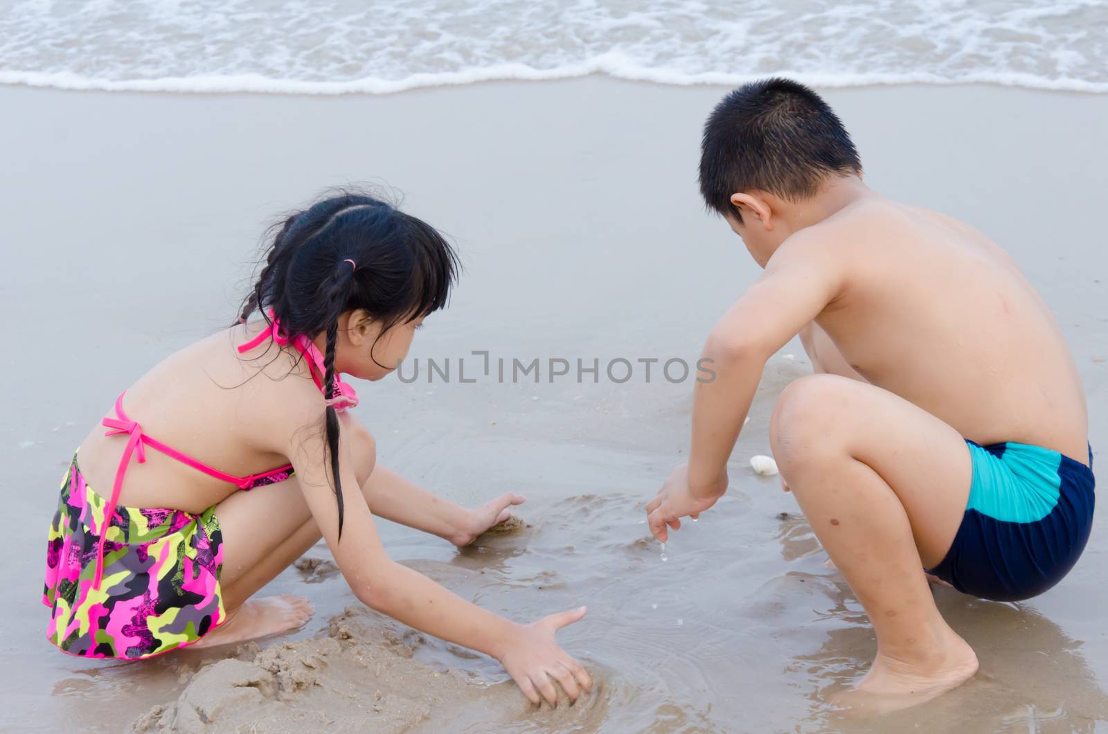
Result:
{"label": "boy's bare back and side above his swim trunks", "polygon": [[978,444],[1033,444],[1087,463],[1077,368],[1003,249],[955,220],[880,197],[809,230],[818,236],[799,246],[833,248],[842,268],[815,323],[862,377]]}

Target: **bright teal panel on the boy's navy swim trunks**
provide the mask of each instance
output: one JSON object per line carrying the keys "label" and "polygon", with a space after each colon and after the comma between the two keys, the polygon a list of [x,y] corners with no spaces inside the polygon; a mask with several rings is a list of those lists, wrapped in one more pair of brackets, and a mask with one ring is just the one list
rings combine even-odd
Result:
{"label": "bright teal panel on the boy's navy swim trunks", "polygon": [[1057,451],[1026,444],[1006,444],[1003,452],[966,446],[973,457],[966,509],[1004,522],[1037,522],[1058,504],[1061,455]]}

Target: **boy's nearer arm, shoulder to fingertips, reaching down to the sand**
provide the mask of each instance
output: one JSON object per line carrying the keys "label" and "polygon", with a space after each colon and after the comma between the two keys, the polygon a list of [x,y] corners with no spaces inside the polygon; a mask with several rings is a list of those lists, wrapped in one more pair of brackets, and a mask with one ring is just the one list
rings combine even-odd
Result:
{"label": "boy's nearer arm, shoulder to fingertips, reaching down to the sand", "polygon": [[843,266],[825,237],[801,232],[773,254],[766,272],[708,335],[702,358],[716,377],[698,381],[693,397],[693,446],[647,506],[650,531],[665,541],[667,526],[710,507],[727,489],[727,460],[750,409],[766,360],[834,299]]}

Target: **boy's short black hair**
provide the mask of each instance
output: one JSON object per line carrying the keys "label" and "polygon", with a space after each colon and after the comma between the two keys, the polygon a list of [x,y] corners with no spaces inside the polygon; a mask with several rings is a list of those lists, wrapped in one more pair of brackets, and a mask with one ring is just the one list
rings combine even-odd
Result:
{"label": "boy's short black hair", "polygon": [[790,79],[730,92],[704,125],[700,194],[718,214],[742,216],[731,194],[758,188],[789,201],[815,194],[828,176],[859,174],[858,151],[819,94]]}

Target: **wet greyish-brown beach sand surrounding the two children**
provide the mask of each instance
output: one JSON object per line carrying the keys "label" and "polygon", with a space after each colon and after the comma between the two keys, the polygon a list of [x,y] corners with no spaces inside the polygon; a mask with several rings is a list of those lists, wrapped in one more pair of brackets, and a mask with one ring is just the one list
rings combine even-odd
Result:
{"label": "wet greyish-brown beach sand surrounding the two children", "polygon": [[[0,89],[11,345],[0,358],[0,580],[12,601],[0,622],[0,728],[195,731],[201,713],[215,731],[259,732],[1108,725],[1102,512],[1084,559],[1039,599],[935,591],[979,656],[970,683],[875,722],[827,703],[865,670],[874,638],[793,498],[748,465],[769,452],[776,395],[809,369],[798,345],[766,370],[729,495],[676,534],[666,561],[640,520],[687,450],[691,383],[660,379],[657,365],[649,384],[640,368],[623,385],[603,374],[551,384],[545,369],[538,384],[458,381],[459,357],[466,377],[479,371],[473,350],[598,358],[602,369],[619,357],[696,359],[758,273],[696,192],[700,124],[722,91],[607,79],[335,99]],[[871,185],[963,218],[1016,257],[1058,316],[1102,447],[1108,96],[895,86],[827,98]],[[365,181],[401,188],[468,271],[410,355],[450,357],[451,381],[428,384],[424,361],[414,383],[358,386],[379,460],[462,503],[524,492],[531,526],[459,552],[382,522],[387,548],[520,621],[587,603],[560,635],[599,682],[578,706],[529,711],[494,661],[359,608],[322,547],[308,554],[318,563],[267,589],[315,603],[295,634],[136,664],[71,659],[44,640],[45,529],[73,448],[146,368],[232,320],[269,217]]]}

